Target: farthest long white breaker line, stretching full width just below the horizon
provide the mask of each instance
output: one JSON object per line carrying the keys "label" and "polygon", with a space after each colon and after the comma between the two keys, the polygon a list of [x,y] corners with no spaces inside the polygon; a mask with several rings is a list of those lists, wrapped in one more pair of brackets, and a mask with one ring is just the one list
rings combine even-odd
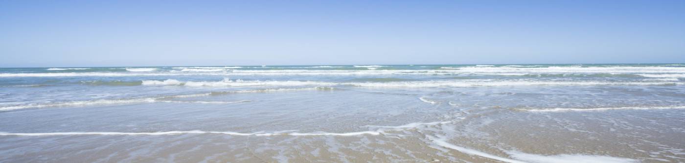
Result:
{"label": "farthest long white breaker line, stretching full width just below the horizon", "polygon": [[[373,66],[356,66],[379,68]],[[182,67],[177,67],[182,68]],[[312,70],[312,69],[276,69],[276,70],[242,70],[224,67],[182,68],[180,71],[162,71],[156,68],[125,68],[132,73],[0,73],[0,77],[75,77],[75,76],[135,76],[135,75],[605,75],[607,77],[685,77],[685,67],[667,66],[549,66],[549,67],[512,67],[512,66],[444,66],[439,69],[425,70]],[[152,72],[155,71],[155,72]],[[147,73],[146,73],[147,72]]]}

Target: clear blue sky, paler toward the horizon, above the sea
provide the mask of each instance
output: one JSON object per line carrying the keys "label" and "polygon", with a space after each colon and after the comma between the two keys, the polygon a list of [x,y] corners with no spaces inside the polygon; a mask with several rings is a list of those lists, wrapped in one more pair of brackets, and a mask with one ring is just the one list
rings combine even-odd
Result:
{"label": "clear blue sky, paler toward the horizon, above the sea", "polygon": [[0,1],[0,67],[685,63],[685,1]]}

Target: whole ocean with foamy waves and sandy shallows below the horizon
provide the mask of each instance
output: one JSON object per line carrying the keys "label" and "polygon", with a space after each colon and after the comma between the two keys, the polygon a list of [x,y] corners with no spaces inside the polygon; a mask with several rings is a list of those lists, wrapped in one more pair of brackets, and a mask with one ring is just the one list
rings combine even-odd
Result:
{"label": "whole ocean with foamy waves and sandy shallows below the horizon", "polygon": [[685,64],[0,68],[0,162],[685,162]]}

